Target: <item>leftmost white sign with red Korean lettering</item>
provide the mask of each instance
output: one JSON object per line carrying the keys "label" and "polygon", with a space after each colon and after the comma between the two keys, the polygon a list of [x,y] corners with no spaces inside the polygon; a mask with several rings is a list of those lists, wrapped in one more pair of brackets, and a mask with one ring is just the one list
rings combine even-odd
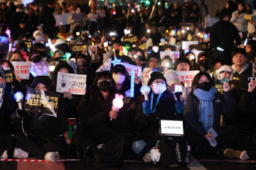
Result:
{"label": "leftmost white sign with red Korean lettering", "polygon": [[14,67],[14,74],[17,74],[21,80],[29,80],[30,63],[24,61],[11,61]]}

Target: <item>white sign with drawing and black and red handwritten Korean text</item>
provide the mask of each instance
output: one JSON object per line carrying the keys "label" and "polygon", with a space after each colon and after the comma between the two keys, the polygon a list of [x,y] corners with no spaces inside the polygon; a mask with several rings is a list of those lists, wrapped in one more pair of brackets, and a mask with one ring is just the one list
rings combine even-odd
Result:
{"label": "white sign with drawing and black and red handwritten Korean text", "polygon": [[84,95],[86,93],[86,77],[83,74],[58,72],[56,91]]}

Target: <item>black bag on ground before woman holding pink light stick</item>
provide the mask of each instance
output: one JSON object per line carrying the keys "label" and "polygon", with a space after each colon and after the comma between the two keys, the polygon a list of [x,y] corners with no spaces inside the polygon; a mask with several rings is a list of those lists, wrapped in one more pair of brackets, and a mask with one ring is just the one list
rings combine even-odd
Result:
{"label": "black bag on ground before woman holding pink light stick", "polygon": [[123,160],[124,136],[118,136],[105,144],[97,147],[88,146],[83,153],[82,161],[87,166],[102,168],[105,166],[120,165]]}

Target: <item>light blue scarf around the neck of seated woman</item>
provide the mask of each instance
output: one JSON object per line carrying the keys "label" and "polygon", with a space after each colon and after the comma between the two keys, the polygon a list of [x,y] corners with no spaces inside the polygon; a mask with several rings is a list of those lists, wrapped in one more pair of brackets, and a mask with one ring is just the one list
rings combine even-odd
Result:
{"label": "light blue scarf around the neck of seated woman", "polygon": [[198,121],[203,123],[203,128],[206,131],[214,125],[214,104],[212,101],[215,98],[215,93],[217,93],[217,88],[215,87],[211,87],[209,91],[200,88],[194,90],[195,96],[200,100]]}

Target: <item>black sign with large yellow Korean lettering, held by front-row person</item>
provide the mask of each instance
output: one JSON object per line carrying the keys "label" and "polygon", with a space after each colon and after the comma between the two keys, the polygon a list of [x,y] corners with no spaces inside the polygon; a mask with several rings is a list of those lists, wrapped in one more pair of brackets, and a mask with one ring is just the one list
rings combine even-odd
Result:
{"label": "black sign with large yellow Korean lettering, held by front-row person", "polygon": [[45,113],[57,117],[60,97],[60,93],[28,88],[24,109],[29,109],[32,113]]}

